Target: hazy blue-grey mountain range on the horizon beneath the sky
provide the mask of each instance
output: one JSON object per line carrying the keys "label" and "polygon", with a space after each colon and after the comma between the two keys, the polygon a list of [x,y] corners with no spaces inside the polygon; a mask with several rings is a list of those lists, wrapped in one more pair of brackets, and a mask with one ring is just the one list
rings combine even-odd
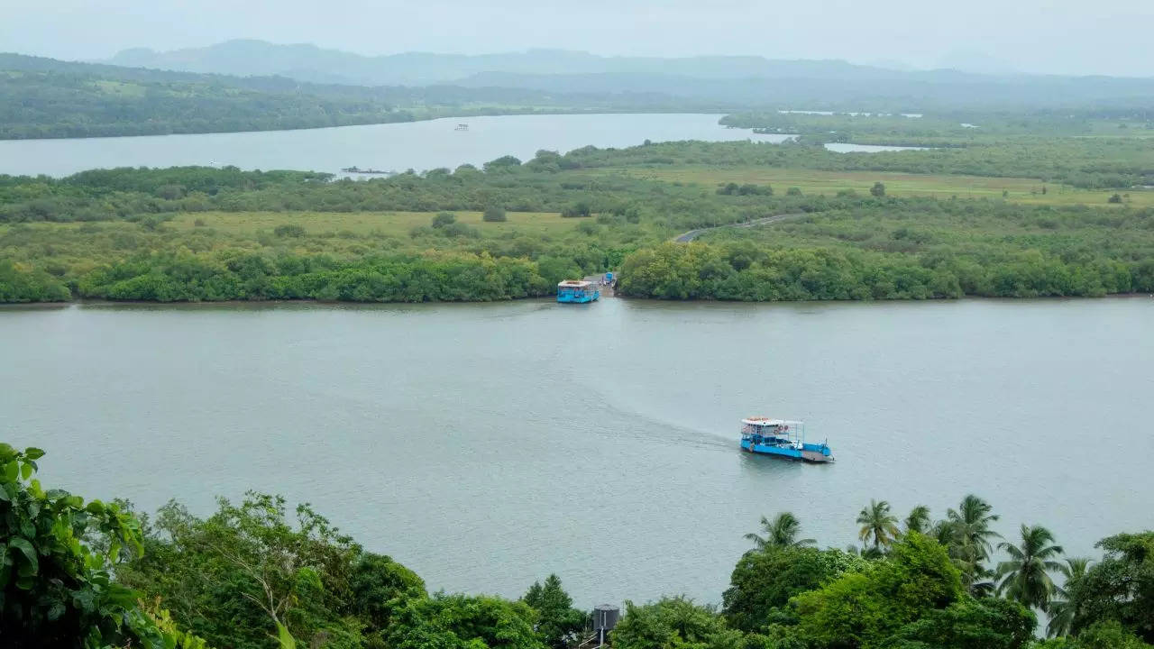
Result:
{"label": "hazy blue-grey mountain range on the horizon beneath the sky", "polygon": [[[974,57],[959,58],[959,61],[974,64]],[[992,60],[984,61],[987,67],[994,67]],[[242,76],[280,75],[316,83],[452,84],[584,94],[649,92],[715,105],[775,105],[788,109],[920,112],[936,107],[1154,104],[1154,79],[909,70],[838,60],[771,60],[762,57],[661,59],[600,57],[561,50],[481,55],[411,52],[365,57],[315,45],[230,40],[171,52],[126,50],[110,62]]]}

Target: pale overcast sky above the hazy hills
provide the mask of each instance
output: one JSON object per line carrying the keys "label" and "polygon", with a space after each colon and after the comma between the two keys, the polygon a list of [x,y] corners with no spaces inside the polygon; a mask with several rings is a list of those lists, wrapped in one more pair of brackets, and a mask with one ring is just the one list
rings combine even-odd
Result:
{"label": "pale overcast sky above the hazy hills", "polygon": [[100,59],[231,38],[1154,76],[1154,0],[0,0],[0,51]]}

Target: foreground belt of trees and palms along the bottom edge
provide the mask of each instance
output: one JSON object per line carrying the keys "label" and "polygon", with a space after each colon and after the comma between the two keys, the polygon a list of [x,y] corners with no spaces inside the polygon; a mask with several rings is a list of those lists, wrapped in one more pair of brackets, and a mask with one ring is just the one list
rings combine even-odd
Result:
{"label": "foreground belt of trees and palms along the bottom edge", "polygon": [[[207,517],[85,502],[35,478],[44,452],[0,443],[0,642],[25,649],[572,649],[590,637],[556,575],[510,600],[429,594],[308,505],[220,498]],[[967,495],[934,521],[872,500],[861,545],[820,550],[790,513],[747,535],[721,606],[625,603],[619,649],[1144,649],[1154,641],[1154,532],[1066,557],[1044,527],[994,529]],[[1001,555],[999,555],[1001,553]],[[497,569],[496,567],[494,569]],[[1039,614],[1048,640],[1035,637]]]}

